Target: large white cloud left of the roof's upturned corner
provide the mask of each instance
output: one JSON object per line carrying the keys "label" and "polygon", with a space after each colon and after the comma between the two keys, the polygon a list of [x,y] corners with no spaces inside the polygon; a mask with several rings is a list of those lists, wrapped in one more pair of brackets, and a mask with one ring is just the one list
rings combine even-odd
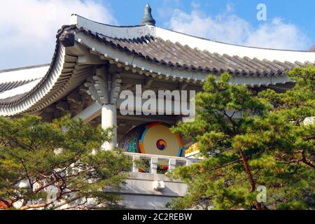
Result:
{"label": "large white cloud left of the roof's upturned corner", "polygon": [[71,14],[116,24],[109,7],[98,0],[1,1],[0,69],[50,62],[55,34]]}

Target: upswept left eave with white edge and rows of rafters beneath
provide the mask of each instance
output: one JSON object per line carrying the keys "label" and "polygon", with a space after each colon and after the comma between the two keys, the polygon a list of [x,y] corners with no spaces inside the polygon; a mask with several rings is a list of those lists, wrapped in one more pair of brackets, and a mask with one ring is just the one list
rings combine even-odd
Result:
{"label": "upswept left eave with white edge and rows of rafters beneath", "polygon": [[64,26],[58,31],[52,62],[36,85],[25,92],[0,99],[0,116],[39,111],[83,83],[91,73],[92,66],[77,64],[77,57],[69,54],[64,43],[59,39],[64,32],[73,28],[73,26]]}

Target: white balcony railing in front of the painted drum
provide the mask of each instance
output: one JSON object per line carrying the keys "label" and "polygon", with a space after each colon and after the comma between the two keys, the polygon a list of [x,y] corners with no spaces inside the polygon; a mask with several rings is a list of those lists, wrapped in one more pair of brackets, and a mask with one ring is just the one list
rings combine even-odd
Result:
{"label": "white balcony railing in front of the painted drum", "polygon": [[[165,174],[177,167],[192,165],[198,160],[165,156],[165,155],[151,155],[151,154],[141,154],[141,153],[126,153],[132,157],[132,172],[134,173],[151,173],[151,174]],[[142,165],[141,162],[146,163]],[[146,167],[145,167],[146,166]],[[161,168],[162,167],[162,168]],[[148,169],[146,169],[148,168]]]}

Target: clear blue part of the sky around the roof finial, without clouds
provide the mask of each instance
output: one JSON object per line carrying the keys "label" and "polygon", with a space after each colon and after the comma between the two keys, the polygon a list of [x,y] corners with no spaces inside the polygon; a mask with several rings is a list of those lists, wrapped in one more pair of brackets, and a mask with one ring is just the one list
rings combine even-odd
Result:
{"label": "clear blue part of the sky around the roof finial, without clouds", "polygon": [[282,18],[284,22],[289,22],[299,27],[315,42],[314,0],[113,0],[103,2],[113,8],[113,13],[121,25],[134,25],[139,23],[139,15],[142,15],[144,5],[148,2],[153,10],[153,16],[157,20],[157,25],[160,27],[165,27],[165,22],[171,17],[171,15],[162,16],[160,10],[163,10],[163,8],[179,8],[186,13],[190,13],[193,3],[199,3],[202,11],[212,16],[225,11],[226,6],[231,4],[233,10],[240,18],[258,27],[262,22],[256,19],[258,12],[256,6],[258,3],[265,3],[267,6],[267,21],[272,20],[272,18]]}

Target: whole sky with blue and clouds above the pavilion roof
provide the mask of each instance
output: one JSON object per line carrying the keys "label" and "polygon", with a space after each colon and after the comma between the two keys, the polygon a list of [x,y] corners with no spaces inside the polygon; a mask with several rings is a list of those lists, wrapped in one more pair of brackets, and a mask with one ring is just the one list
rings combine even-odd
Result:
{"label": "whole sky with blue and clouds above the pavilion roof", "polygon": [[[214,41],[288,50],[315,43],[314,0],[10,0],[0,8],[0,69],[49,63],[57,29],[71,13],[138,25],[147,2],[157,26]],[[256,18],[259,3],[266,21]]]}

